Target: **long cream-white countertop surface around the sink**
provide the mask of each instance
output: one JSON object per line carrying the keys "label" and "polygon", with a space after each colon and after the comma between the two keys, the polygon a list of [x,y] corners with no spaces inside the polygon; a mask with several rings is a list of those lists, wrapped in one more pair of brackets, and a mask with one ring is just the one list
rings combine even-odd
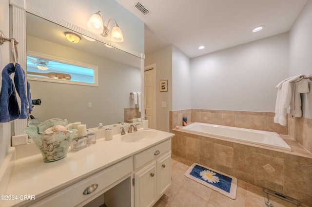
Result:
{"label": "long cream-white countertop surface around the sink", "polygon": [[[121,135],[108,141],[97,139],[96,144],[78,152],[68,151],[65,158],[54,162],[43,162],[41,154],[17,159],[5,195],[39,198],[174,136],[154,129],[148,131],[157,132],[157,136],[141,142],[123,142]],[[3,207],[27,202],[20,199],[5,201]]]}

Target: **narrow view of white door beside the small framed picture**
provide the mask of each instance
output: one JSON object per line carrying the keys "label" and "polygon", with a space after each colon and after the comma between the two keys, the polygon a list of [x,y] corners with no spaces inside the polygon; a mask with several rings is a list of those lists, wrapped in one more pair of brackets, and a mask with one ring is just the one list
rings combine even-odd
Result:
{"label": "narrow view of white door beside the small framed picture", "polygon": [[144,68],[144,91],[148,128],[155,129],[155,64]]}

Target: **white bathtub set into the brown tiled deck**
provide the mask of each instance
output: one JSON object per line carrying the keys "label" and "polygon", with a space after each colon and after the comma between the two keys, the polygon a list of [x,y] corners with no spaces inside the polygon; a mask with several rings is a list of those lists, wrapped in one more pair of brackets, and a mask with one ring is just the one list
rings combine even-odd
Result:
{"label": "white bathtub set into the brown tiled deck", "polygon": [[181,128],[181,131],[197,135],[227,138],[248,142],[275,149],[292,151],[290,146],[276,133],[232,126],[222,126],[209,123],[194,122]]}

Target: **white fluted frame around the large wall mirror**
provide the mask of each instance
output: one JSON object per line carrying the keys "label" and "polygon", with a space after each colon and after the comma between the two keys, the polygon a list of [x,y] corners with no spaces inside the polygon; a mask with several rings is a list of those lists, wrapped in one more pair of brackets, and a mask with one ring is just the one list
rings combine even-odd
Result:
{"label": "white fluted frame around the large wall mirror", "polygon": [[[46,13],[45,11],[42,11],[41,9],[35,7],[34,5],[31,5],[26,2],[26,0],[10,0],[9,1],[10,6],[12,6],[11,15],[10,18],[12,20],[12,37],[19,40],[18,44],[18,50],[19,50],[19,64],[20,66],[25,70],[26,73],[26,67],[27,67],[27,49],[26,49],[26,12],[31,13],[33,15],[36,15],[38,17],[44,18],[46,20],[49,20],[51,22],[54,22],[56,24],[59,24],[63,27],[66,27],[70,30],[73,30],[81,35],[89,36],[93,39],[96,39],[102,43],[111,45],[123,52],[130,53],[132,55],[135,55],[141,59],[141,107],[145,108],[145,96],[144,96],[144,59],[145,55],[143,53],[138,53],[135,51],[132,51],[130,49],[124,48],[120,46],[119,44],[110,41],[109,39],[102,37],[100,35],[95,35],[83,28],[78,27],[77,25],[74,25],[70,22],[67,22],[59,17],[56,17],[52,14]],[[25,77],[26,78],[26,77]],[[145,116],[144,114],[145,110],[141,111],[141,118]],[[14,120],[14,137],[16,136],[25,136],[25,133],[23,132],[23,129],[27,128],[27,119],[23,120]]]}

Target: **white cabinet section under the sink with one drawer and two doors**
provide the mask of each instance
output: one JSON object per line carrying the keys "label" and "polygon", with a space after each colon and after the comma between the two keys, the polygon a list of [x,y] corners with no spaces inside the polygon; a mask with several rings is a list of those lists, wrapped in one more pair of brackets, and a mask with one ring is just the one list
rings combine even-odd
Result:
{"label": "white cabinet section under the sink with one drawer and two doors", "polygon": [[135,206],[150,207],[171,185],[171,139],[134,156]]}

